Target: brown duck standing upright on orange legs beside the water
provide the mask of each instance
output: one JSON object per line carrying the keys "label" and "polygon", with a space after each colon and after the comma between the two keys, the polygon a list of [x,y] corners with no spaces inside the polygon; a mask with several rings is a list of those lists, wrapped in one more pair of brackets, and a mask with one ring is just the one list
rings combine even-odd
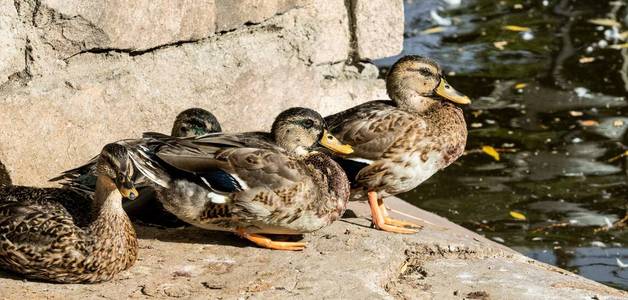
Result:
{"label": "brown duck standing upright on orange legs beside the water", "polygon": [[334,136],[355,150],[337,160],[352,182],[352,193],[367,193],[374,226],[414,233],[412,228],[421,226],[389,218],[383,197],[416,188],[462,155],[467,128],[456,104],[471,101],[445,81],[435,61],[420,56],[398,60],[386,89],[392,101],[366,102],[325,121]]}

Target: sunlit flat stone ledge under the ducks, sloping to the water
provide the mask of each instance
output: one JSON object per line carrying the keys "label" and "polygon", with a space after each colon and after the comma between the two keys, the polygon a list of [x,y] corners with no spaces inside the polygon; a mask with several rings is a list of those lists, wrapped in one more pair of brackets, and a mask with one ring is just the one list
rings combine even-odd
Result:
{"label": "sunlit flat stone ledge under the ducks, sloping to the water", "polygon": [[[59,285],[0,272],[7,299],[626,299],[628,294],[526,258],[398,199],[418,234],[369,228],[365,203],[305,235],[303,252],[255,248],[229,233],[137,226],[139,260],[113,281]],[[352,215],[351,212],[347,215]],[[399,216],[397,216],[399,217]]]}

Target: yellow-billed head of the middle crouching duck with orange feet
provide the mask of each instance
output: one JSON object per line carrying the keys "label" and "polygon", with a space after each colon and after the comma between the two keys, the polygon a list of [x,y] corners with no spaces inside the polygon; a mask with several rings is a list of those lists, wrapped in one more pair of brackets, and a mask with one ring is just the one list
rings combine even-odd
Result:
{"label": "yellow-billed head of the middle crouching duck with orange feet", "polygon": [[277,145],[298,157],[320,146],[339,154],[353,152],[351,146],[331,135],[323,117],[309,108],[294,107],[280,113],[273,123],[271,135]]}

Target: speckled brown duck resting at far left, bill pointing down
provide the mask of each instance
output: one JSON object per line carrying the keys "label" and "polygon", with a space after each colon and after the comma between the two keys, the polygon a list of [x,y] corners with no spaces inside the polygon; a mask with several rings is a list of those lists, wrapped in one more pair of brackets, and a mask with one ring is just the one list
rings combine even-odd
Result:
{"label": "speckled brown duck resting at far left, bill pointing down", "polygon": [[131,267],[137,239],[121,202],[138,193],[127,154],[118,144],[103,148],[93,198],[70,189],[0,189],[0,268],[33,279],[94,283]]}

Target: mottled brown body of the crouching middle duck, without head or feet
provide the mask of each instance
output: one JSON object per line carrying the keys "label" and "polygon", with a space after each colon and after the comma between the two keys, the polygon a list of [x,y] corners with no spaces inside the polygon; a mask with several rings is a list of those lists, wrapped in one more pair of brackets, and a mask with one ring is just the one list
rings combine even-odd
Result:
{"label": "mottled brown body of the crouching middle duck, without head or feet", "polygon": [[[156,156],[176,170],[169,172],[170,184],[158,189],[158,198],[167,210],[203,228],[311,232],[336,220],[349,196],[347,178],[332,159],[317,152],[293,158],[262,133],[164,143]],[[221,192],[203,177],[215,170],[228,174],[228,183],[238,190]],[[215,197],[226,203],[216,203]]]}

